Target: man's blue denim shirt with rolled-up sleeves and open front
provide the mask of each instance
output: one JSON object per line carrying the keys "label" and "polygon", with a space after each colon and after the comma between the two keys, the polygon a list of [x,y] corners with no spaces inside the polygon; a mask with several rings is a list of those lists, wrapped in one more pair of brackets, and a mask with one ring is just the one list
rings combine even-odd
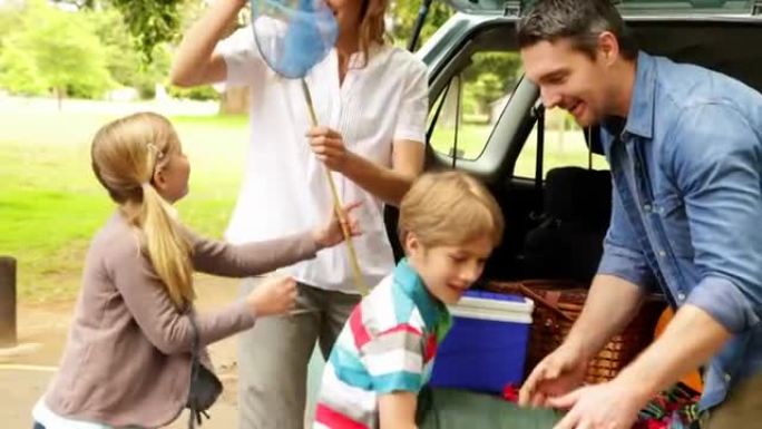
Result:
{"label": "man's blue denim shirt with rolled-up sleeves and open front", "polygon": [[598,273],[734,334],[706,367],[701,407],[716,406],[762,369],[762,95],[641,52],[629,114],[607,118],[602,139],[614,207]]}

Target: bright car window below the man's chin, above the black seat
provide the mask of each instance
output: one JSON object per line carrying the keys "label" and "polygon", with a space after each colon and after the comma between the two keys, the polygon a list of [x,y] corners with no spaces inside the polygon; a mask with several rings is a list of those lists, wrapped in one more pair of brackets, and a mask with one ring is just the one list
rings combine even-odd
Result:
{"label": "bright car window below the man's chin, above the black seat", "polygon": [[[545,113],[545,140],[543,150],[543,177],[557,167],[590,166],[608,169],[606,157],[590,154],[585,143],[585,134],[566,110],[555,108]],[[592,158],[592,159],[590,159]],[[533,128],[521,153],[516,159],[515,177],[534,178],[537,169],[537,124]]]}

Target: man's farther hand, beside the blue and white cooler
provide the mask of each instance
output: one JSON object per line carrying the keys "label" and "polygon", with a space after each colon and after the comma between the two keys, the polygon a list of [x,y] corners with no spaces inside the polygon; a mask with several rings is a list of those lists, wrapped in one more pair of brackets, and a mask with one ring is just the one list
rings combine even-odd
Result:
{"label": "man's farther hand, beside the blue and white cooler", "polygon": [[535,367],[519,390],[520,407],[547,407],[548,398],[569,393],[585,379],[587,360],[573,344],[561,344]]}

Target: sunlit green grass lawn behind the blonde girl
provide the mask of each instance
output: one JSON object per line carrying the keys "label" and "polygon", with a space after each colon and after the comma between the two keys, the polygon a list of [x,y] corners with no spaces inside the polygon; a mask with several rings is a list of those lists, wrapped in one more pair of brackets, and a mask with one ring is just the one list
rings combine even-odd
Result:
{"label": "sunlit green grass lawn behind the blonde girl", "polygon": [[[89,163],[90,139],[109,119],[0,115],[0,254],[18,260],[20,300],[76,295],[89,240],[115,208]],[[244,168],[246,118],[173,120],[192,166],[180,216],[196,231],[221,236]]]}

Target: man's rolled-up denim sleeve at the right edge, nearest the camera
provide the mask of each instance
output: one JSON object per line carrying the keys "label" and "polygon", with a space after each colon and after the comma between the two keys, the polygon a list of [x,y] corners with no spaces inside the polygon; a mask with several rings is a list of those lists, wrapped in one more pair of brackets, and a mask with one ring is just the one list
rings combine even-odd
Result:
{"label": "man's rolled-up denim sleeve at the right edge, nearest the camera", "polygon": [[[704,104],[683,113],[672,153],[701,280],[686,303],[730,332],[760,322],[762,308],[762,145],[733,107]],[[675,150],[681,147],[682,150]]]}

